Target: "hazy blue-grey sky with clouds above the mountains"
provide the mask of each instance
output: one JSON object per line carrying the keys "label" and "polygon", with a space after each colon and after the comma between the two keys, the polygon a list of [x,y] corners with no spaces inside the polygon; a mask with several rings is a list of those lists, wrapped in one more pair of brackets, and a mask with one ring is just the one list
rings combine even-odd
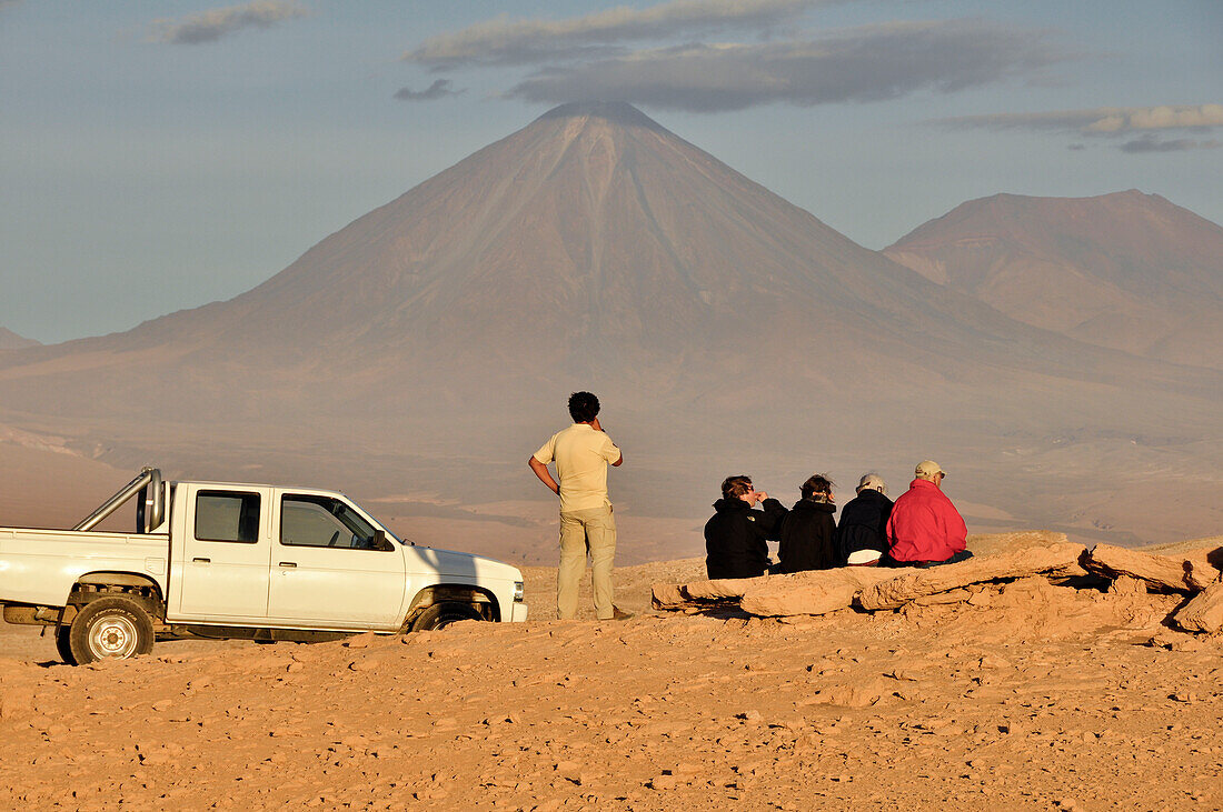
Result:
{"label": "hazy blue-grey sky with clouds above the mountains", "polygon": [[0,326],[231,298],[578,99],[868,248],[998,192],[1223,223],[1223,0],[0,0]]}

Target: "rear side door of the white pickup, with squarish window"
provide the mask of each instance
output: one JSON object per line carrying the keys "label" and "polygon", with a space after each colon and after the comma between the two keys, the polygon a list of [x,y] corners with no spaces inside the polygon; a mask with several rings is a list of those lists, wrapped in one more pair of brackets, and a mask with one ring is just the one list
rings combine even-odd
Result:
{"label": "rear side door of the white pickup, with squarish window", "polygon": [[263,620],[268,617],[272,488],[187,488],[179,615]]}

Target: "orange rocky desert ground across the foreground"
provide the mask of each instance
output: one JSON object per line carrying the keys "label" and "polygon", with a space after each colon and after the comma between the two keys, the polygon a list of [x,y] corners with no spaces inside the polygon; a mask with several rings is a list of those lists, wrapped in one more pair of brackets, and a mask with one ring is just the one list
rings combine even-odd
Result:
{"label": "orange rocky desert ground across the foreground", "polygon": [[1223,807],[1223,639],[1164,624],[1183,597],[649,609],[702,569],[621,568],[620,623],[541,619],[555,571],[528,568],[525,624],[81,668],[0,625],[0,807]]}

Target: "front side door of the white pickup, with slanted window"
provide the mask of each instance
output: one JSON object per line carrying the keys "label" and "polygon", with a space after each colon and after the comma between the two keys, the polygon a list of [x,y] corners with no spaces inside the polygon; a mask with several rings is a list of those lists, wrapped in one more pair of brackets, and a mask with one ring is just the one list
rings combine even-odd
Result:
{"label": "front side door of the white pickup, with slanted window", "polygon": [[295,625],[394,630],[402,620],[404,554],[377,548],[375,527],[329,495],[275,491],[268,615]]}

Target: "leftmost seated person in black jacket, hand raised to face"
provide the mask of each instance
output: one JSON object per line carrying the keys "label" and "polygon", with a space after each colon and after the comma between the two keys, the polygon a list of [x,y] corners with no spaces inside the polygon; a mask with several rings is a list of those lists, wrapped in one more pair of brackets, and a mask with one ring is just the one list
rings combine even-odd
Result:
{"label": "leftmost seated person in black jacket, hand raised to face", "polygon": [[[763,502],[763,510],[753,510]],[[709,579],[756,578],[768,569],[768,540],[777,538],[786,510],[764,491],[752,487],[750,476],[728,476],[722,498],[704,524],[704,559]]]}

